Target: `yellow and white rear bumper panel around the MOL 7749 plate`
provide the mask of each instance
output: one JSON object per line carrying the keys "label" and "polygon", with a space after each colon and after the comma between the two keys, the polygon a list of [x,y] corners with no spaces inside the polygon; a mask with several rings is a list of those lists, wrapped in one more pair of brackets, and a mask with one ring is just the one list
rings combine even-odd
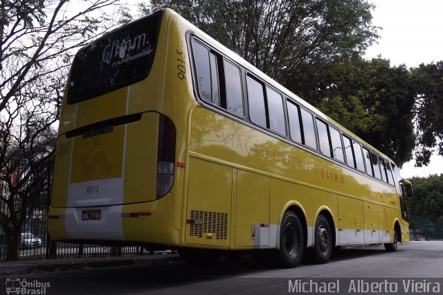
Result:
{"label": "yellow and white rear bumper panel around the MOL 7749 plate", "polygon": [[[82,220],[84,211],[100,210],[100,220]],[[138,214],[136,214],[138,213]],[[54,240],[90,240],[178,244],[172,226],[172,196],[157,202],[80,208],[51,208],[48,231]]]}

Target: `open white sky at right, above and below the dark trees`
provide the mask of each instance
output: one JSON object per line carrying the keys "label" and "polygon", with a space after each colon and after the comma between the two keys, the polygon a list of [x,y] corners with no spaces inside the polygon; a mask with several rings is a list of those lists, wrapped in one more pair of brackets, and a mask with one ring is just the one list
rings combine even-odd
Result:
{"label": "open white sky at right, above and below the dark trees", "polygon": [[[372,24],[379,26],[378,44],[373,44],[365,57],[381,55],[391,66],[406,64],[408,68],[443,60],[443,0],[370,0],[376,8]],[[427,167],[405,163],[401,176],[427,177],[443,173],[443,157],[433,155]]]}

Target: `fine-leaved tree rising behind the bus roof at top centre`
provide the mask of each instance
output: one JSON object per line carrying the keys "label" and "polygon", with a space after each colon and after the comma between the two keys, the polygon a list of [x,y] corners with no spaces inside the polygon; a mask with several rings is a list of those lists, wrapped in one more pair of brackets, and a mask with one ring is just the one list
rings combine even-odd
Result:
{"label": "fine-leaved tree rising behind the bus roof at top centre", "polygon": [[152,0],[151,5],[176,10],[282,84],[307,66],[359,55],[377,37],[373,6],[366,0]]}

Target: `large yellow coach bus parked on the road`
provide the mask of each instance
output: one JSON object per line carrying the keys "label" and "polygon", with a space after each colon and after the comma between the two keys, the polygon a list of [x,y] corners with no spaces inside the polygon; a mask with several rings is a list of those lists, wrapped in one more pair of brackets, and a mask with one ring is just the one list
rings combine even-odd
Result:
{"label": "large yellow coach bus parked on the road", "polygon": [[406,190],[388,157],[165,9],[75,55],[48,230],[295,267],[408,242]]}

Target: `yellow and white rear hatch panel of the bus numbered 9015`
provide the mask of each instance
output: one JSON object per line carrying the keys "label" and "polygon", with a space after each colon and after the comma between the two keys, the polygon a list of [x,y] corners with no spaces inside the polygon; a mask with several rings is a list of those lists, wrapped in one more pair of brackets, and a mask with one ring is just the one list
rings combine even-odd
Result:
{"label": "yellow and white rear hatch panel of the bus numbered 9015", "polygon": [[60,136],[59,144],[66,145],[69,152],[57,154],[54,193],[65,195],[66,202],[52,206],[105,206],[156,199],[158,125],[159,114],[148,112],[138,122],[114,126],[100,136],[83,138],[80,134],[69,140]]}

